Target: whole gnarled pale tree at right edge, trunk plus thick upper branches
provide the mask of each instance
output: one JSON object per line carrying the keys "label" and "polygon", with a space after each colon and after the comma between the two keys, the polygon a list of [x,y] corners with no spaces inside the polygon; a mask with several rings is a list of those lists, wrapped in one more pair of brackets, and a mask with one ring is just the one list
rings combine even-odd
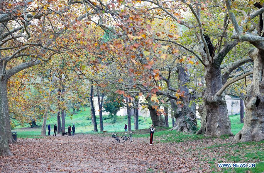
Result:
{"label": "whole gnarled pale tree at right edge, trunk plus thick upper branches", "polygon": [[[229,13],[230,20],[233,24],[233,38],[239,39],[240,41],[248,41],[250,44],[254,45],[256,48],[251,49],[248,52],[250,58],[254,61],[253,68],[253,81],[247,87],[247,96],[245,100],[246,115],[244,117],[244,126],[240,132],[234,137],[233,143],[246,142],[246,141],[261,141],[264,139],[264,122],[263,122],[263,110],[264,110],[264,38],[263,38],[263,2],[261,3],[250,3],[249,5],[254,5],[258,10],[251,12],[246,15],[238,24],[236,15],[233,12],[235,5],[231,7],[231,1],[226,0],[226,7]],[[250,8],[251,11],[253,8]],[[250,30],[244,30],[243,27],[249,22],[254,20],[259,16],[258,23],[258,35],[254,35]]]}

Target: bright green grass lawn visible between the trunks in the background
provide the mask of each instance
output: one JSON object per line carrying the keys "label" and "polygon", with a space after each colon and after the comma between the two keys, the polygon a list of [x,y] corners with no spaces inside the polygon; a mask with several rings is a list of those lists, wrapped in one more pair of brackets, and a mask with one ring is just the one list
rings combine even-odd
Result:
{"label": "bright green grass lawn visible between the trunks in the background", "polygon": [[[123,132],[124,131],[124,124],[127,123],[127,116],[118,116],[116,123],[112,123],[111,119],[106,119],[107,116],[103,116],[104,118],[104,130],[107,130],[108,132]],[[240,117],[239,115],[232,115],[230,116],[231,120],[231,130],[233,134],[236,134],[239,132],[240,129],[243,127],[243,123],[240,123]],[[200,127],[200,120],[197,120],[198,122],[198,129]],[[82,108],[81,111],[76,113],[73,116],[66,116],[65,118],[65,127],[68,125],[75,124],[76,126],[76,133],[93,133],[93,125],[90,115],[90,109],[89,108]],[[51,125],[51,133],[53,133],[53,126],[54,124],[57,124],[57,117],[54,115],[53,117],[49,117],[47,120],[47,126],[48,124]],[[150,127],[151,118],[150,117],[139,117],[139,129],[148,129]],[[30,125],[28,124],[25,127],[21,127],[20,124],[16,124],[16,128],[12,129],[12,131],[16,131],[18,138],[39,138],[41,133],[41,125],[42,121],[37,122],[37,125],[39,125],[38,128],[30,128]],[[100,129],[99,124],[99,116],[97,116],[97,126],[98,129]],[[131,117],[131,126],[132,129],[134,129],[134,117]],[[187,140],[195,140],[195,139],[202,139],[202,135],[195,135],[190,133],[179,133],[175,131],[168,131],[172,127],[172,121],[171,118],[169,118],[169,128],[167,129],[157,129],[155,136],[162,136],[162,139],[160,142],[182,142]],[[48,134],[48,127],[46,127],[46,133]],[[100,133],[100,132],[98,132]],[[134,134],[134,137],[148,137],[148,130],[137,132]]]}

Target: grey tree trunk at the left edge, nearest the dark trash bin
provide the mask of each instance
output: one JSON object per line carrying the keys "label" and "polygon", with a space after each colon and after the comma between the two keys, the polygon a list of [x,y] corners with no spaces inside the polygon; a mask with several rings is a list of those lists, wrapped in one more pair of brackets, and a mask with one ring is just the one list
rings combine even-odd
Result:
{"label": "grey tree trunk at the left edge, nearest the dark trash bin", "polygon": [[11,156],[11,151],[9,149],[8,140],[9,136],[6,135],[5,129],[5,115],[8,111],[8,101],[7,101],[7,80],[0,79],[0,155]]}

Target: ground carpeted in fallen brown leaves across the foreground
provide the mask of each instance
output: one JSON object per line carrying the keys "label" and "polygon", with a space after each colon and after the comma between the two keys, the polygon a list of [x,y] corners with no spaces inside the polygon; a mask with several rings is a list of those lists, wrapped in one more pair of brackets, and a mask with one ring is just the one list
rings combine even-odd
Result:
{"label": "ground carpeted in fallen brown leaves across the foreground", "polygon": [[[231,145],[232,138],[179,143],[148,138],[111,142],[100,134],[18,139],[0,172],[263,172],[263,142]],[[262,161],[262,162],[261,162]],[[219,162],[253,162],[255,169],[220,169]]]}

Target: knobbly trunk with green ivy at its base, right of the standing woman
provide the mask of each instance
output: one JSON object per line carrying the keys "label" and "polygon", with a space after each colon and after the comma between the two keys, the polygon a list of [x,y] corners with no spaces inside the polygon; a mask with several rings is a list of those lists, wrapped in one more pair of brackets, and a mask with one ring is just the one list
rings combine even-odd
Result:
{"label": "knobbly trunk with green ivy at its base, right of the standing woman", "polygon": [[197,126],[197,120],[195,118],[195,105],[190,106],[191,95],[189,94],[189,89],[186,85],[189,81],[188,73],[186,73],[182,65],[178,67],[177,72],[179,89],[181,92],[185,92],[185,97],[182,99],[182,105],[176,105],[175,100],[171,99],[170,101],[176,119],[172,130],[188,132]]}

